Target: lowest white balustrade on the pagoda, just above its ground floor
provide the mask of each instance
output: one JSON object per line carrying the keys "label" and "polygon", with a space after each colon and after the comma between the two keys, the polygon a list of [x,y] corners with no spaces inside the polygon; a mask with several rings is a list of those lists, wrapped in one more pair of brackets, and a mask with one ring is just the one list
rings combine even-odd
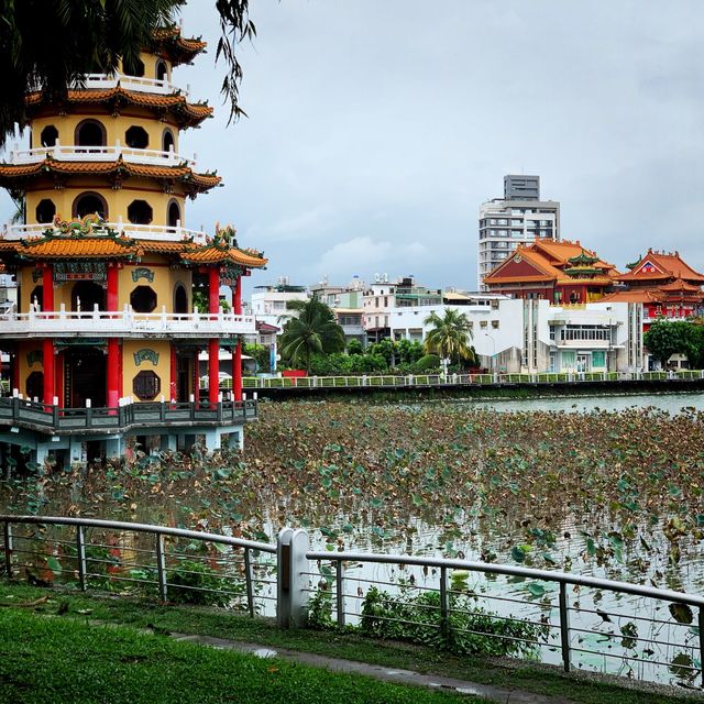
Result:
{"label": "lowest white balustrade on the pagoda, just above its ground floor", "polygon": [[0,315],[0,340],[30,338],[226,338],[255,334],[254,316],[123,310],[48,310]]}

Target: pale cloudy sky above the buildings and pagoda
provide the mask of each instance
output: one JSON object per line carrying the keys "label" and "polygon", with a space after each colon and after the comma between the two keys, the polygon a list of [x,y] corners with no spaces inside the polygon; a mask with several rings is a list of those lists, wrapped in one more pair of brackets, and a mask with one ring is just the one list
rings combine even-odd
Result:
{"label": "pale cloudy sky above the buildings and pagoda", "polygon": [[[414,275],[476,289],[480,205],[539,174],[563,239],[623,270],[653,249],[704,271],[701,0],[251,0],[242,107],[227,127],[212,0],[175,70],[216,118],[180,151],[224,186],[186,224],[264,250],[252,285]],[[7,219],[9,198],[0,200]]]}

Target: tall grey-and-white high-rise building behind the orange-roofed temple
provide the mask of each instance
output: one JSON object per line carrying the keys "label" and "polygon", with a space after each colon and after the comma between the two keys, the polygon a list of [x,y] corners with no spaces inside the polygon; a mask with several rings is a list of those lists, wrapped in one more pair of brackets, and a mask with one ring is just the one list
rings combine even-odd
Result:
{"label": "tall grey-and-white high-rise building behind the orange-roofed temple", "polygon": [[540,200],[540,176],[504,176],[504,197],[482,204],[477,251],[477,286],[519,244],[560,240],[560,204]]}

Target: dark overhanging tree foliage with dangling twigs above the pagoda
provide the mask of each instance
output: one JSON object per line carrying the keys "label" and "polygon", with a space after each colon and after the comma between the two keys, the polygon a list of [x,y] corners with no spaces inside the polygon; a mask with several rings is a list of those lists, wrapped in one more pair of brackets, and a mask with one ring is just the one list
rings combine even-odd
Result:
{"label": "dark overhanging tree foliage with dangling twigs above the pagoda", "polygon": [[[86,73],[112,73],[120,58],[136,65],[154,31],[173,25],[186,0],[0,0],[0,146],[24,123],[24,92],[57,99]],[[200,4],[202,0],[198,0]],[[238,105],[242,67],[237,47],[256,35],[250,0],[215,0],[221,36],[216,61],[226,63],[222,94],[230,119]]]}

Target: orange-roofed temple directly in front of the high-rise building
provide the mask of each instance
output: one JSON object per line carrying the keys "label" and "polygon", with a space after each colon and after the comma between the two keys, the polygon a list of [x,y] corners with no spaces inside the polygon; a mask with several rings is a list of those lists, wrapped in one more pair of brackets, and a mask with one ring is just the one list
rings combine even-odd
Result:
{"label": "orange-roofed temple directly in front of the high-rise building", "polygon": [[495,294],[564,305],[601,300],[618,276],[613,264],[602,261],[579,240],[546,240],[517,248],[484,283]]}

